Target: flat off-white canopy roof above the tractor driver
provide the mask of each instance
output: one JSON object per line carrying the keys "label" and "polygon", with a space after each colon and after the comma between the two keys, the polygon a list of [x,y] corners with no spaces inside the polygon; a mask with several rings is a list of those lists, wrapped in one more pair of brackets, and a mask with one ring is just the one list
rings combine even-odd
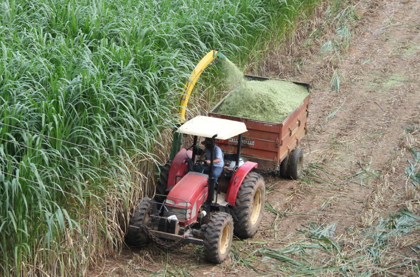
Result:
{"label": "flat off-white canopy roof above the tractor driver", "polygon": [[230,139],[247,132],[245,123],[208,116],[196,116],[185,122],[176,132],[216,139]]}

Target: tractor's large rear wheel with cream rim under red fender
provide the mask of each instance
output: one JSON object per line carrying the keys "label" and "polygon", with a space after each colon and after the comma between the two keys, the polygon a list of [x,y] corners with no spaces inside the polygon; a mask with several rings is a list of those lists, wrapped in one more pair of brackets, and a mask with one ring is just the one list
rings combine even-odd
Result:
{"label": "tractor's large rear wheel with cream rim under red fender", "polygon": [[231,207],[234,233],[237,237],[249,238],[256,233],[261,224],[264,203],[264,178],[255,172],[250,172],[239,188],[235,206]]}

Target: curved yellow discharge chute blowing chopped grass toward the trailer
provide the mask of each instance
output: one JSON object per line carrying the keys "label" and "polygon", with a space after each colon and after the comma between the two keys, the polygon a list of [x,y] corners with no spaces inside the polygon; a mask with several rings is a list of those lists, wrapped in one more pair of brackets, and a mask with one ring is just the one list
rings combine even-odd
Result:
{"label": "curved yellow discharge chute blowing chopped grass toward the trailer", "polygon": [[201,73],[203,73],[204,69],[209,66],[210,62],[212,62],[217,57],[226,59],[225,55],[223,55],[218,50],[213,49],[207,55],[205,55],[204,58],[201,59],[201,61],[197,64],[197,66],[194,68],[194,71],[188,78],[188,81],[185,84],[184,92],[182,92],[178,110],[178,114],[181,116],[183,122],[185,122],[185,112],[187,109],[188,99],[190,98],[191,92],[193,91],[198,78],[200,77]]}

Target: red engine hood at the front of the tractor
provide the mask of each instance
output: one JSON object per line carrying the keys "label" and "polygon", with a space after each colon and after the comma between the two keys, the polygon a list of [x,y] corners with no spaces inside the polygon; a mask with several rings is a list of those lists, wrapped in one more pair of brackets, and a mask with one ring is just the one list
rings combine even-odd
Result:
{"label": "red engine hood at the front of the tractor", "polygon": [[209,187],[207,186],[209,176],[202,173],[190,172],[186,174],[176,185],[169,191],[168,200],[175,202],[176,206],[187,208],[194,205],[198,207],[207,199]]}

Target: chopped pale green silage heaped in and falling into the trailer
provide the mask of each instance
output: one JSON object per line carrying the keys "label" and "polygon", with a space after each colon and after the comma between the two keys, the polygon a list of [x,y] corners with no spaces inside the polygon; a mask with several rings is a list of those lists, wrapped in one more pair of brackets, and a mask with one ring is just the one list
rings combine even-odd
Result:
{"label": "chopped pale green silage heaped in and falling into the trailer", "polygon": [[281,123],[309,95],[305,86],[269,79],[250,81],[230,61],[226,61],[227,83],[235,89],[223,100],[218,114]]}

